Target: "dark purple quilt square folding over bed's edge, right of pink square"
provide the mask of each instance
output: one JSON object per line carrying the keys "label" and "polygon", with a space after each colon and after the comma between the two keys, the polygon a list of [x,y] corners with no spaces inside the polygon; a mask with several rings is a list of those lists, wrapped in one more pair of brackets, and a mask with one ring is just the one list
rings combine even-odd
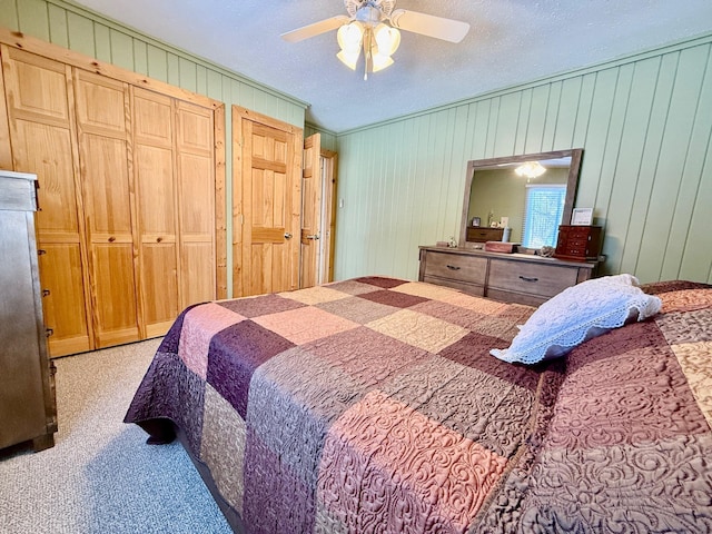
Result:
{"label": "dark purple quilt square folding over bed's edge, right of pink square", "polygon": [[291,342],[251,320],[225,328],[210,340],[208,384],[246,418],[253,373],[269,358],[293,346]]}

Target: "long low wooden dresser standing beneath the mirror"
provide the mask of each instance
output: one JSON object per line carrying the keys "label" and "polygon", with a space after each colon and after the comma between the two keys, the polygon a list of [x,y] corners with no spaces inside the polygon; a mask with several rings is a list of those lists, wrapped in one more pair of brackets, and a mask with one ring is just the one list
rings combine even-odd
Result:
{"label": "long low wooden dresser standing beneath the mirror", "polygon": [[533,306],[593,278],[597,267],[596,261],[562,261],[525,254],[419,248],[419,281]]}

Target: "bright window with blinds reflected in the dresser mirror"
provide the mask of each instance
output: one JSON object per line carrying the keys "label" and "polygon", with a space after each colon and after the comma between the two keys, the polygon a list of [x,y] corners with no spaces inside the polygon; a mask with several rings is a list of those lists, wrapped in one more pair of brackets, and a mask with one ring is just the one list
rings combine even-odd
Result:
{"label": "bright window with blinds reflected in the dresser mirror", "polygon": [[522,245],[527,248],[556,246],[565,201],[565,184],[527,185]]}

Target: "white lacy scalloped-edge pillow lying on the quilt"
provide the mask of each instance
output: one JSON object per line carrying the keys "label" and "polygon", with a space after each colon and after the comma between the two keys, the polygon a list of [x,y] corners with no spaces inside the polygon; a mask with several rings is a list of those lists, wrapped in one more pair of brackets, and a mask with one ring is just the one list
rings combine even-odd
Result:
{"label": "white lacy scalloped-edge pillow lying on the quilt", "polygon": [[510,363],[536,364],[570,353],[586,339],[660,312],[632,275],[604,276],[564,289],[542,304],[520,328],[510,348],[490,354]]}

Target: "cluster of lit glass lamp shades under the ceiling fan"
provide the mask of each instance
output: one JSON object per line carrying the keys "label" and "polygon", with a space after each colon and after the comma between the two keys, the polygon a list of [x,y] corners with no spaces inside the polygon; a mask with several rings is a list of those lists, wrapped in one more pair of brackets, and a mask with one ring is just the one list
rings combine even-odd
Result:
{"label": "cluster of lit glass lamp shades under the ceiling fan", "polygon": [[336,57],[352,70],[356,70],[360,49],[364,49],[366,80],[368,71],[378,72],[393,65],[390,56],[400,44],[400,32],[383,22],[374,27],[370,21],[363,23],[355,20],[342,26],[336,39],[342,48]]}

